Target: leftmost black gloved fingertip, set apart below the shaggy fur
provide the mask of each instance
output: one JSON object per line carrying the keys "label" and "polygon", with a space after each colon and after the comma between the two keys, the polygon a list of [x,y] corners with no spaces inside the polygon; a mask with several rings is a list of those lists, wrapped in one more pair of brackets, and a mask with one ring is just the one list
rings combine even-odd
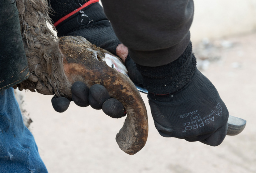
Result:
{"label": "leftmost black gloved fingertip, set apart below the shaggy fur", "polygon": [[62,113],[65,112],[70,104],[70,100],[65,97],[53,97],[52,98],[52,105],[53,109],[56,112]]}

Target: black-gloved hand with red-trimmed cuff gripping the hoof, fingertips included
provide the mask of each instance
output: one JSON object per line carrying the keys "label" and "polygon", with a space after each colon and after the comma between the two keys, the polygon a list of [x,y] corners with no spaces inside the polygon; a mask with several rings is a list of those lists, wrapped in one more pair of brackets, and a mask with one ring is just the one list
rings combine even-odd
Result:
{"label": "black-gloved hand with red-trimmed cuff gripping the hoof, fingertips included", "polygon": [[[119,56],[124,62],[129,62],[129,69],[136,69],[135,63],[129,57],[127,58],[128,48],[117,39],[110,21],[106,18],[100,4],[98,2],[90,4],[89,2],[86,2],[83,5],[84,8],[78,10],[76,13],[71,9],[71,13],[74,13],[73,15],[65,14],[68,17],[63,17],[63,11],[67,10],[63,8],[66,8],[66,6],[70,7],[73,4],[68,4],[70,1],[66,2],[65,0],[61,2],[66,3],[65,5],[59,4],[59,1],[50,1],[51,7],[57,12],[55,16],[51,17],[55,22],[54,25],[58,31],[58,36],[82,36],[92,44]],[[134,73],[134,70],[131,71]],[[136,71],[138,73],[137,69]],[[133,78],[136,79],[135,76]],[[90,104],[94,109],[102,109],[105,114],[113,118],[119,118],[126,114],[122,103],[116,99],[110,99],[108,91],[102,85],[93,85],[89,89],[82,82],[75,82],[72,85],[71,92],[72,100],[78,106],[85,107]],[[54,96],[52,98],[52,104],[55,111],[64,112],[68,109],[70,100],[65,97]]]}

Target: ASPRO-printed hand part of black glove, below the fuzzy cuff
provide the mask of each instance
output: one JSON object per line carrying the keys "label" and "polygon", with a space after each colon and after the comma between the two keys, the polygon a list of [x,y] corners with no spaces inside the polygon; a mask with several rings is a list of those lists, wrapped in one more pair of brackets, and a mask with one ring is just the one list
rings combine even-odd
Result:
{"label": "ASPRO-printed hand part of black glove, below the fuzzy cuff", "polygon": [[148,94],[152,116],[164,137],[217,146],[227,134],[228,110],[213,84],[198,70],[181,90]]}

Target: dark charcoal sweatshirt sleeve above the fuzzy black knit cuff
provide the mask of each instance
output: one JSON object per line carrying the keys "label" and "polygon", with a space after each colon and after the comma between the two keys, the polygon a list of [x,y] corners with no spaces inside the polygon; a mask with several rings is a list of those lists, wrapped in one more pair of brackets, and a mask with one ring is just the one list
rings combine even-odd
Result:
{"label": "dark charcoal sweatshirt sleeve above the fuzzy black knit cuff", "polygon": [[193,0],[101,0],[118,39],[142,66],[168,64],[185,51]]}

